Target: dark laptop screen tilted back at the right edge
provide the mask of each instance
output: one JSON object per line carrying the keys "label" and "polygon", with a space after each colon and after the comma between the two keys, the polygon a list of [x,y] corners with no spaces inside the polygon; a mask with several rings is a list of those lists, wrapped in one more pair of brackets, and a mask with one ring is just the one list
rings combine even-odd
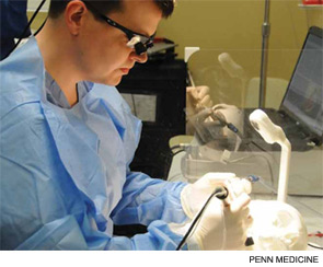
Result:
{"label": "dark laptop screen tilted back at the right edge", "polygon": [[319,137],[323,134],[322,37],[309,34],[281,109]]}

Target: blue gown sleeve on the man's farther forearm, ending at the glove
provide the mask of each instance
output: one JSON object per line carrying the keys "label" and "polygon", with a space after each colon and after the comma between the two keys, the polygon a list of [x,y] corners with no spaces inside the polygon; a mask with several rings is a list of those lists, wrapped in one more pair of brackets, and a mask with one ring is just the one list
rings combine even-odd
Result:
{"label": "blue gown sleeve on the man's farther forearm, ending at the glove", "polygon": [[181,205],[182,182],[165,182],[147,174],[129,172],[123,198],[114,209],[115,224],[149,225],[154,220],[182,223],[187,217]]}

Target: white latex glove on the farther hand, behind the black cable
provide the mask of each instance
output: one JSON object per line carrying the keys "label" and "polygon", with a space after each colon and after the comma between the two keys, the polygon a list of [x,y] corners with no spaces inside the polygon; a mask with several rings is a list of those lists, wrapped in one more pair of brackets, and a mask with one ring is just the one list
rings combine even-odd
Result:
{"label": "white latex glove on the farther hand, behind the black cable", "polygon": [[207,173],[194,184],[183,188],[181,204],[185,214],[193,219],[219,185],[226,186],[232,197],[251,193],[251,183],[235,177],[234,173]]}

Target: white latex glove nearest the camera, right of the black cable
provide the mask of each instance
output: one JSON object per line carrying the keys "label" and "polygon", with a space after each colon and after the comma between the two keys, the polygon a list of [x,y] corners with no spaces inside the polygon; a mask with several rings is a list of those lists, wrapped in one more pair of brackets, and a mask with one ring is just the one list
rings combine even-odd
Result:
{"label": "white latex glove nearest the camera, right of the black cable", "polygon": [[252,224],[249,202],[245,193],[228,207],[223,207],[222,200],[212,198],[193,233],[194,242],[203,251],[244,249],[247,229]]}

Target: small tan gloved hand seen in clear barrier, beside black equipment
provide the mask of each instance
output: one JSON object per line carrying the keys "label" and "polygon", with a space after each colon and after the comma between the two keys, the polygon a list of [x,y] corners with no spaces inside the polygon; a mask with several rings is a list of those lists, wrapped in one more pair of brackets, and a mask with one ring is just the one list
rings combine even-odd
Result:
{"label": "small tan gloved hand seen in clear barrier, beside black equipment", "polygon": [[210,89],[205,85],[186,88],[186,114],[188,116],[197,114],[203,107],[212,106],[209,91]]}

